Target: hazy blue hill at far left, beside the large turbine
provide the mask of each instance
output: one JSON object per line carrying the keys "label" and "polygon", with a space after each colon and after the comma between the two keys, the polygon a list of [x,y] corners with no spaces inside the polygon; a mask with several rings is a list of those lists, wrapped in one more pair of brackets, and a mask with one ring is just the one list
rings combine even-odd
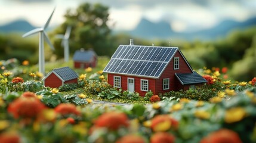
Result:
{"label": "hazy blue hill at far left, beside the large turbine", "polygon": [[0,32],[10,33],[10,32],[28,32],[29,30],[35,29],[35,26],[32,26],[26,20],[16,20],[11,23],[4,24],[0,26]]}

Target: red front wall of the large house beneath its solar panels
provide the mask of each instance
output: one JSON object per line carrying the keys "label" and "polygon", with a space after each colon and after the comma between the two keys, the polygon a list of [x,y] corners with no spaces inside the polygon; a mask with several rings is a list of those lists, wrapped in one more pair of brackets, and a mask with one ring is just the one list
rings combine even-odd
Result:
{"label": "red front wall of the large house beneath its solar panels", "polygon": [[114,85],[114,76],[121,76],[121,88],[126,91],[128,89],[127,84],[128,78],[134,78],[134,91],[138,92],[140,96],[145,96],[147,91],[141,91],[140,90],[140,79],[147,79],[149,80],[149,90],[151,90],[153,93],[156,92],[156,79],[150,79],[150,78],[145,78],[145,77],[134,77],[134,76],[125,76],[125,75],[120,75],[120,74],[107,74],[107,79],[110,85]]}

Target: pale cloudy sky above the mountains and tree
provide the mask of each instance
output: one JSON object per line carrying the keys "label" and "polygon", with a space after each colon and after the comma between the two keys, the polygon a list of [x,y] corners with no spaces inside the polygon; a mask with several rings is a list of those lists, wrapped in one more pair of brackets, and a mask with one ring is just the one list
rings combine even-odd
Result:
{"label": "pale cloudy sky above the mountains and tree", "polygon": [[107,5],[110,24],[123,30],[133,29],[143,17],[168,21],[176,32],[206,29],[225,19],[256,17],[255,0],[0,0],[0,24],[24,18],[40,27],[55,6],[50,24],[60,24],[67,8],[75,9],[82,2]]}

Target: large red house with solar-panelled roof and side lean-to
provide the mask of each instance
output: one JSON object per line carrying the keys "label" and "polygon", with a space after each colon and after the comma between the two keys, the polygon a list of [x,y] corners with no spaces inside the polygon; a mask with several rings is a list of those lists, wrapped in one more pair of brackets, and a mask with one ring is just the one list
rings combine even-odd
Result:
{"label": "large red house with solar-panelled roof and side lean-to", "polygon": [[103,70],[110,85],[145,95],[187,90],[206,80],[193,71],[180,49],[165,46],[119,45]]}

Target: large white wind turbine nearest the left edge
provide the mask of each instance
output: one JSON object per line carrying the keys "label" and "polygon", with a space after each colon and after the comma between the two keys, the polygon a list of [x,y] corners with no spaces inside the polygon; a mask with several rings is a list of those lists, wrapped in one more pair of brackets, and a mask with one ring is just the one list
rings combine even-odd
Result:
{"label": "large white wind turbine nearest the left edge", "polygon": [[24,38],[26,36],[30,36],[35,33],[39,33],[38,67],[39,67],[39,72],[42,73],[43,75],[45,75],[44,38],[45,38],[45,41],[48,43],[48,45],[51,47],[51,49],[54,50],[54,46],[53,46],[53,44],[51,44],[51,41],[50,41],[49,37],[47,36],[47,33],[45,32],[45,29],[47,29],[47,27],[51,21],[51,17],[53,17],[54,11],[55,11],[55,8],[54,8],[53,12],[51,13],[50,17],[48,18],[47,22],[45,23],[44,27],[33,29],[33,30],[25,33],[22,36]]}

